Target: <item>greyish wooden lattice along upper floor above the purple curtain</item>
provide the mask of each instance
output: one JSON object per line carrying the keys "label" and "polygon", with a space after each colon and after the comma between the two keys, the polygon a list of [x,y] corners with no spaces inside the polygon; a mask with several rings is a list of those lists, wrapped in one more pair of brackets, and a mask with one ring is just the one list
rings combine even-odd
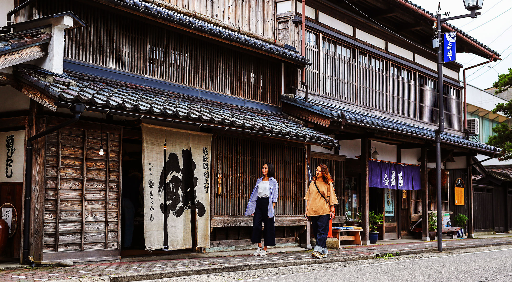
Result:
{"label": "greyish wooden lattice along upper floor above the purple curtain", "polygon": [[[311,92],[343,102],[438,123],[437,80],[322,34],[308,31],[306,67]],[[445,127],[462,130],[461,91],[444,85]]]}

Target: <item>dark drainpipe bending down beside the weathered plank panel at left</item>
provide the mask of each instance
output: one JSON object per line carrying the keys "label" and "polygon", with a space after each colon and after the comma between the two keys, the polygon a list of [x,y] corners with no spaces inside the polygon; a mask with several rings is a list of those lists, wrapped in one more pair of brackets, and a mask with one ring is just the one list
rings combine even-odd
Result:
{"label": "dark drainpipe bending down beside the weathered plank panel at left", "polygon": [[57,126],[54,126],[50,129],[47,129],[41,133],[35,134],[27,139],[27,151],[26,157],[27,160],[25,162],[25,216],[23,218],[23,261],[30,266],[34,266],[33,258],[29,258],[30,253],[30,213],[31,213],[31,198],[32,198],[32,142],[37,140],[43,136],[46,136],[54,131],[57,131],[63,127],[66,127],[70,124],[76,123],[78,119],[80,119],[80,114],[82,114],[86,110],[86,105],[76,104],[73,105],[70,111],[75,115],[73,118],[63,122]]}

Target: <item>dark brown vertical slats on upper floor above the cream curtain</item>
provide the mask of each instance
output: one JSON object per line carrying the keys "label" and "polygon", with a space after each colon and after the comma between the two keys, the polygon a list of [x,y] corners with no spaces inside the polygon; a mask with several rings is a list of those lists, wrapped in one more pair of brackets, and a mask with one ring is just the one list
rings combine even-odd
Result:
{"label": "dark brown vertical slats on upper floor above the cream curtain", "polygon": [[35,16],[65,11],[75,12],[88,24],[66,32],[66,57],[279,104],[279,63],[75,2],[39,1]]}

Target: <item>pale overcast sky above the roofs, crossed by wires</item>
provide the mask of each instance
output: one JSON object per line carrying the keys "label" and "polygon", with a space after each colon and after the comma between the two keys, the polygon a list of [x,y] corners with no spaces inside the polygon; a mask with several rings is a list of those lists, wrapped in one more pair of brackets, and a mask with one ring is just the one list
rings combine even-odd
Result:
{"label": "pale overcast sky above the roofs, crossed by wires", "polygon": [[[462,0],[412,0],[412,2],[433,14],[437,12],[437,3],[441,2],[442,17],[444,12],[450,12],[450,16],[468,13]],[[512,45],[512,0],[485,0],[480,12],[482,15],[477,18],[455,19],[449,23],[501,54],[501,61],[466,72],[469,84],[485,89],[492,87],[498,78],[498,73],[508,72],[508,68],[512,68],[512,46],[510,46]],[[486,61],[485,58],[471,53],[457,53],[456,58],[464,68]],[[462,80],[462,69],[460,74]]]}

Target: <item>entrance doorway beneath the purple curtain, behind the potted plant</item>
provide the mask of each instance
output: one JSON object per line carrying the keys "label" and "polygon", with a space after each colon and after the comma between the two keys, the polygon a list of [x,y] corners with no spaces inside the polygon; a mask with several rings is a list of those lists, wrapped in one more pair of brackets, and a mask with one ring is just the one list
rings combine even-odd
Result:
{"label": "entrance doorway beneath the purple curtain, behind the potted plant", "polygon": [[396,191],[393,189],[369,188],[370,211],[382,214],[382,225],[377,228],[379,239],[398,239]]}

